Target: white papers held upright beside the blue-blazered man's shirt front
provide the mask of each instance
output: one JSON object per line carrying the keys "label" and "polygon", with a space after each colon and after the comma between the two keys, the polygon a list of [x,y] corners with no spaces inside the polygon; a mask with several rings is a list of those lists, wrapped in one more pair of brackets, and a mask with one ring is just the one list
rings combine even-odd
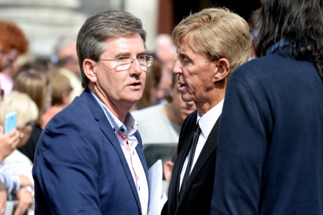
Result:
{"label": "white papers held upright beside the blue-blazered man's shirt front", "polygon": [[156,161],[148,170],[149,180],[149,206],[147,215],[158,215],[158,209],[161,204],[162,192],[162,164],[161,160]]}

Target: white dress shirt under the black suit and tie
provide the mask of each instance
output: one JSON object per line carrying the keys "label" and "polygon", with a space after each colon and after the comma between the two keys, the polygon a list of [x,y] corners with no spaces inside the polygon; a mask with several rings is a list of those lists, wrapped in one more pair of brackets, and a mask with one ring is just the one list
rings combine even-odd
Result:
{"label": "white dress shirt under the black suit and tie", "polygon": [[[223,102],[224,102],[224,99],[221,102],[219,102],[216,106],[214,106],[211,110],[209,110],[206,114],[204,114],[202,117],[200,116],[200,113],[197,112],[196,122],[199,124],[199,126],[201,128],[201,133],[198,138],[197,145],[196,145],[194,159],[193,159],[192,168],[190,170],[190,173],[192,172],[192,169],[194,168],[194,165],[195,165],[198,157],[200,156],[203,146],[204,146],[206,140],[208,139],[208,137],[211,133],[211,130],[213,129],[213,126],[215,125],[215,123],[217,122],[218,118],[220,117],[220,115],[222,113]],[[180,173],[179,190],[180,190],[180,186],[182,185],[183,177],[184,177],[184,174],[186,171],[186,167],[188,164],[190,154],[191,154],[191,149],[189,150],[189,152],[186,156],[186,159],[185,159],[183,167],[182,167],[182,171]],[[178,190],[178,192],[179,192],[179,190]]]}

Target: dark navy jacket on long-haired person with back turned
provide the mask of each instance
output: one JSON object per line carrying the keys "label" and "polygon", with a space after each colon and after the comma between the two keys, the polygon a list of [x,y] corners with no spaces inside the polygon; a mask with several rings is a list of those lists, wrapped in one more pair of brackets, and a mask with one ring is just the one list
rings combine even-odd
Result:
{"label": "dark navy jacket on long-haired person with back turned", "polygon": [[212,215],[323,214],[323,83],[313,63],[285,56],[229,78]]}

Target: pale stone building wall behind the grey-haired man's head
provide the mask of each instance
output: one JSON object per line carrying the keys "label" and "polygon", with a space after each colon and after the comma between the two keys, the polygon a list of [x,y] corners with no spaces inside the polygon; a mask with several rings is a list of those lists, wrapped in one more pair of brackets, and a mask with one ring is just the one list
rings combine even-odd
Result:
{"label": "pale stone building wall behind the grey-haired man's head", "polygon": [[29,40],[36,58],[50,58],[62,39],[76,39],[85,19],[105,10],[124,10],[142,19],[152,49],[158,0],[0,0],[0,20],[15,22]]}

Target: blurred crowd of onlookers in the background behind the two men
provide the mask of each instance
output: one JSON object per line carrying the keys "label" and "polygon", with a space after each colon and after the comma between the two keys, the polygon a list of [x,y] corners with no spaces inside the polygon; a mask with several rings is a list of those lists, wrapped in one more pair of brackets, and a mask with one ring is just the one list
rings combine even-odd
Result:
{"label": "blurred crowd of onlookers in the background behind the two men", "polygon": [[[83,91],[76,40],[59,38],[53,56],[38,59],[28,52],[28,40],[15,23],[0,21],[0,31],[0,214],[7,200],[18,201],[16,214],[33,214],[31,169],[39,137],[49,120]],[[193,102],[182,101],[178,92],[171,36],[158,35],[148,54],[154,56],[154,64],[148,68],[142,99],[131,112],[143,144],[176,145],[185,117],[196,108]],[[5,115],[13,111],[16,129],[4,134]],[[159,133],[149,132],[152,125],[160,128]],[[166,154],[167,160],[173,154]]]}

